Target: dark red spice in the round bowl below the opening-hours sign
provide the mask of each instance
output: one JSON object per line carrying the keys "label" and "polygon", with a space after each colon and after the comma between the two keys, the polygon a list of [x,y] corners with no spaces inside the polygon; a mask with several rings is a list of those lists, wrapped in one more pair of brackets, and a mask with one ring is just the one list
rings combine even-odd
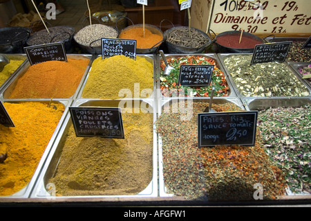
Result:
{"label": "dark red spice in the round bowl below the opening-hours sign", "polygon": [[218,44],[227,48],[254,48],[256,44],[263,44],[262,41],[248,35],[242,35],[240,44],[240,37],[241,33],[232,33],[216,37],[216,40]]}

